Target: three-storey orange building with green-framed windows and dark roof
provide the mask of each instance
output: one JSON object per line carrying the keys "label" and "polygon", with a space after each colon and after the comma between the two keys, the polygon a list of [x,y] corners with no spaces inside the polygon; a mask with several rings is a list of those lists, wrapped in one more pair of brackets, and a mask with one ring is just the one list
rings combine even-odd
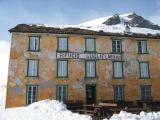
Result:
{"label": "three-storey orange building with green-framed windows and dark roof", "polygon": [[6,107],[42,99],[160,100],[160,35],[19,24]]}

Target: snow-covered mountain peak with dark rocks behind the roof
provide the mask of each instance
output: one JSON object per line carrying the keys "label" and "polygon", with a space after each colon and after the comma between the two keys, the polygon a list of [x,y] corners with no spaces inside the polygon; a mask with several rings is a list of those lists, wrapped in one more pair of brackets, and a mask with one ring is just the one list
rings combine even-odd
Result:
{"label": "snow-covered mountain peak with dark rocks behind the roof", "polygon": [[103,25],[120,25],[124,23],[128,23],[131,27],[138,28],[149,28],[152,30],[160,30],[160,26],[152,23],[151,21],[143,18],[136,13],[126,13],[126,14],[114,14],[112,16],[98,18],[95,20],[87,21],[81,23],[81,26],[103,26]]}

